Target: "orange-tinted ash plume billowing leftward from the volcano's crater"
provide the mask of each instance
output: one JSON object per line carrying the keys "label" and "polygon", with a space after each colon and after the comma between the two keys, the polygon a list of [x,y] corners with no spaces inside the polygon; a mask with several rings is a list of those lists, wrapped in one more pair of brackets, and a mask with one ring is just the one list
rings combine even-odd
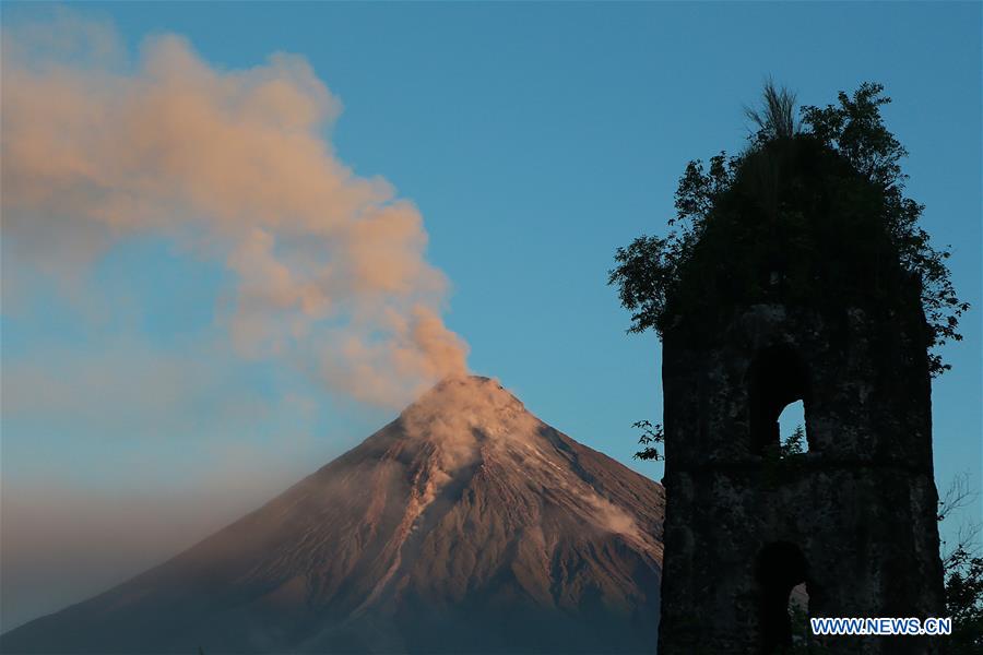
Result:
{"label": "orange-tinted ash plume billowing leftward from the volcano's crater", "polygon": [[5,297],[27,270],[79,293],[114,245],[165,237],[234,273],[222,320],[244,358],[386,406],[466,370],[419,211],[337,158],[341,103],[303,58],[222,70],[163,35],[130,62],[64,12],[5,27],[2,55]]}

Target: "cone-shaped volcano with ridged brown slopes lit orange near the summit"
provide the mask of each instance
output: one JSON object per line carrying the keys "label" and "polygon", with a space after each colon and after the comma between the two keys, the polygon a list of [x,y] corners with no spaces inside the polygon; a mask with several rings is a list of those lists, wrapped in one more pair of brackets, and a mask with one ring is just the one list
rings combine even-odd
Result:
{"label": "cone-shaped volcano with ridged brown slopes lit orange near the summit", "polygon": [[655,651],[662,487],[495,380],[445,380],[362,444],[4,653]]}

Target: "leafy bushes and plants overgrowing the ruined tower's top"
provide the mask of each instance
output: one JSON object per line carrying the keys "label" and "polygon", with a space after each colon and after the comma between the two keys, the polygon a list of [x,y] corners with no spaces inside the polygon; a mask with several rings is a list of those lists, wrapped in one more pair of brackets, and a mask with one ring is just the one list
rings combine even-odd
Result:
{"label": "leafy bushes and plants overgrowing the ruined tower's top", "polygon": [[[697,302],[725,311],[734,298],[761,301],[769,281],[756,278],[753,271],[761,258],[791,262],[782,288],[793,300],[796,294],[810,297],[816,279],[839,285],[844,299],[876,295],[898,277],[893,265],[917,281],[932,374],[948,370],[938,349],[962,338],[959,319],[969,305],[956,295],[946,265],[948,247],[934,247],[919,225],[924,205],[904,195],[900,160],[907,152],[884,124],[880,107],[890,98],[881,92],[880,84],[871,82],[852,96],[840,92],[837,105],[803,107],[796,126],[795,96],[766,84],[763,107],[746,110],[759,128],[748,147],[731,157],[721,152],[707,167],[700,159],[689,162],[675,193],[668,234],[642,235],[617,249],[608,284],[617,286],[621,305],[631,312],[628,332],[654,330],[661,337],[671,321]],[[803,168],[812,178],[801,175]],[[825,215],[817,215],[818,205],[825,206]],[[742,218],[742,212],[761,219]],[[845,243],[831,239],[837,230],[852,230],[852,238]],[[785,239],[785,253],[761,250],[770,241],[761,237],[775,233]],[[825,243],[825,259],[836,260],[821,271],[807,269],[802,262],[809,258],[800,257],[815,254],[817,243]],[[739,252],[726,250],[735,247]],[[735,265],[729,279],[714,281],[722,254]],[[712,284],[687,288],[685,271],[688,278]],[[878,286],[857,289],[853,282],[858,277],[871,277]]]}

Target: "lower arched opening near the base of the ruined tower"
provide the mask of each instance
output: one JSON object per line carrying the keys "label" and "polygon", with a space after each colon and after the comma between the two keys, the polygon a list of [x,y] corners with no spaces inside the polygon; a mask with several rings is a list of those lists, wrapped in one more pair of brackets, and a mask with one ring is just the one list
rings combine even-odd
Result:
{"label": "lower arched opening near the base of the ruined tower", "polygon": [[[792,591],[806,584],[808,567],[794,544],[777,541],[758,553],[757,581],[759,597],[760,652],[782,653],[792,646],[792,607],[794,602],[808,598],[806,587],[792,597]],[[807,608],[806,608],[807,612]]]}

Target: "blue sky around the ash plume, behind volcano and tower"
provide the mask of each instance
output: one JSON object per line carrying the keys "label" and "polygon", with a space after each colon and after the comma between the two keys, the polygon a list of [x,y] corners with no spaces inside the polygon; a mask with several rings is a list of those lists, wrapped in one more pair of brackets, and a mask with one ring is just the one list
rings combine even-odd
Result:
{"label": "blue sky around the ash plume, behind volcano and tower", "polygon": [[[936,476],[944,487],[968,471],[981,486],[979,3],[120,2],[73,11],[115,25],[131,58],[147,36],[174,33],[220,71],[274,52],[306,59],[343,105],[323,135],[337,158],[418,207],[427,259],[451,285],[445,318],[469,343],[472,369],[656,479],[660,466],[630,458],[630,426],[661,419],[659,342],[625,334],[628,315],[606,286],[615,249],[666,229],[687,160],[743,146],[742,107],[768,75],[810,105],[883,83],[895,100],[887,124],[911,153],[909,194],[926,204],[936,242],[952,245],[954,281],[973,305],[966,341],[944,352],[954,370],[933,386]],[[2,17],[16,32],[50,14],[5,3]],[[10,261],[5,248],[5,278],[17,275]],[[190,539],[394,416],[275,362],[237,357],[221,320],[230,274],[174,239],[121,239],[86,275],[82,296],[38,279],[12,302],[4,285],[5,391],[25,364],[47,367],[60,384],[55,400],[40,394],[4,410],[5,496],[54,479],[100,498],[183,502],[200,489],[223,510],[181,524]],[[94,377],[95,386],[79,388]],[[147,407],[141,390],[154,384],[173,398]],[[59,598],[122,574],[110,569]]]}

